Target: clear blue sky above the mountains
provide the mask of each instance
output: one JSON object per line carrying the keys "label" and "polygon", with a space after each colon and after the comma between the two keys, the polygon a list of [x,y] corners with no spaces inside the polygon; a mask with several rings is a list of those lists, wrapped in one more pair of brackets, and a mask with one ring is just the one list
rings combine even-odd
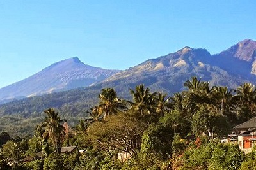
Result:
{"label": "clear blue sky above the mountains", "polygon": [[54,62],[127,69],[184,46],[256,40],[256,1],[0,1],[0,87]]}

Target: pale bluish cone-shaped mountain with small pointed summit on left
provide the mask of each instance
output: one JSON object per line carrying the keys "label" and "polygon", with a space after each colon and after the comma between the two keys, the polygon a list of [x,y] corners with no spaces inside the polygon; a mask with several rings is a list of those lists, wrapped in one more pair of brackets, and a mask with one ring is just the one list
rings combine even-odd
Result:
{"label": "pale bluish cone-shaped mountain with small pointed summit on left", "polygon": [[52,92],[87,87],[118,70],[101,69],[81,62],[77,57],[56,62],[39,73],[0,89],[0,100],[22,99]]}

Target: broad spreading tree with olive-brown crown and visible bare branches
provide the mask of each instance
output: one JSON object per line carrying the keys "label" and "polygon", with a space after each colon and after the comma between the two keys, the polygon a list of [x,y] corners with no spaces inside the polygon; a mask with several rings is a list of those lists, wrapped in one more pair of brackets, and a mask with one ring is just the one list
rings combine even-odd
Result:
{"label": "broad spreading tree with olive-brown crown and visible bare branches", "polygon": [[88,139],[105,150],[115,149],[136,156],[148,124],[128,113],[111,115],[108,122],[96,122],[88,129]]}

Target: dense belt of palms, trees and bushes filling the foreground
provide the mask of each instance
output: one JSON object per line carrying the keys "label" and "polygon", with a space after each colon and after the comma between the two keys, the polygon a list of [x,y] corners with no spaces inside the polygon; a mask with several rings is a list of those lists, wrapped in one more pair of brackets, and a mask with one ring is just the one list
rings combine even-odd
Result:
{"label": "dense belt of palms, trees and bushes filling the foreground", "polygon": [[[255,87],[210,87],[195,77],[184,87],[168,97],[138,85],[131,100],[102,89],[98,104],[74,127],[71,117],[49,108],[27,127],[33,136],[0,134],[0,169],[256,169],[256,150],[244,155],[236,144],[220,143],[234,125],[256,116]],[[22,119],[4,118],[6,127]],[[84,153],[61,154],[61,146]],[[39,151],[42,157],[36,157]],[[118,153],[129,159],[118,159]],[[35,160],[22,162],[29,155]]]}

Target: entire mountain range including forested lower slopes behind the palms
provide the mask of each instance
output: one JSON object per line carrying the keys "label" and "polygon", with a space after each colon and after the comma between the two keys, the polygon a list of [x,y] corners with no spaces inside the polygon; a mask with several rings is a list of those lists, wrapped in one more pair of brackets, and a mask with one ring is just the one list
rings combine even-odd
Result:
{"label": "entire mountain range including forested lower slopes behind the palms", "polygon": [[[129,89],[134,89],[141,83],[150,87],[152,92],[160,91],[172,96],[175,92],[185,90],[183,84],[186,80],[191,80],[192,76],[197,76],[202,81],[209,81],[210,85],[234,89],[245,82],[256,85],[255,53],[256,41],[244,39],[214,55],[202,48],[185,46],[177,52],[146,60],[124,71],[94,68],[81,63],[77,58],[64,60],[10,87],[20,89],[20,94],[24,96],[31,96],[49,91],[53,86],[49,87],[47,83],[59,87],[54,90],[79,87],[81,84],[90,86],[0,104],[0,129],[15,135],[32,134],[33,128],[44,117],[42,111],[50,107],[57,108],[61,117],[68,119],[68,124],[75,125],[79,118],[88,116],[86,111],[97,104],[97,96],[105,87],[113,87],[118,97],[131,99]],[[80,80],[81,84],[79,84]],[[48,90],[40,91],[40,89]],[[8,89],[9,92],[0,90],[2,90],[0,94],[4,93],[8,96],[7,94],[10,93],[12,95],[9,96],[14,96],[15,90],[13,92],[12,89]],[[29,90],[39,92],[32,93]],[[15,92],[18,96],[19,92]]]}

